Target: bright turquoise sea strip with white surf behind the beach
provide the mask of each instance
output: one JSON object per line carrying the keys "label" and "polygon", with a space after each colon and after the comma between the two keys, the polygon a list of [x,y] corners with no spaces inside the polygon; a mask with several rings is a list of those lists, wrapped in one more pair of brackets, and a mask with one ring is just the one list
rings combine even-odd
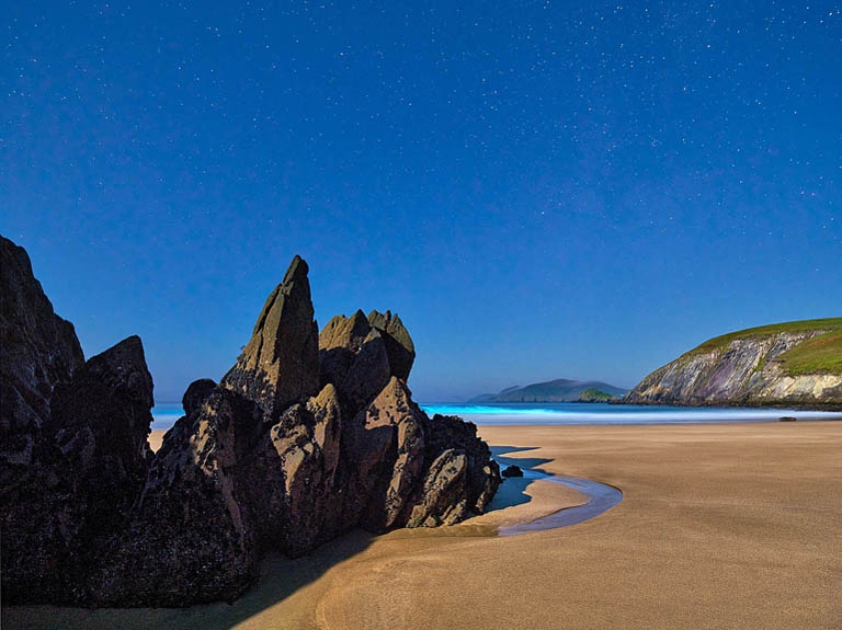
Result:
{"label": "bright turquoise sea strip with white surf behind the beach", "polygon": [[[777,422],[783,416],[799,421],[842,420],[842,412],[793,409],[650,406],[606,403],[419,403],[429,415],[458,415],[478,425],[602,425],[602,424],[713,424]],[[158,403],[152,428],[169,429],[183,415],[180,403]]]}

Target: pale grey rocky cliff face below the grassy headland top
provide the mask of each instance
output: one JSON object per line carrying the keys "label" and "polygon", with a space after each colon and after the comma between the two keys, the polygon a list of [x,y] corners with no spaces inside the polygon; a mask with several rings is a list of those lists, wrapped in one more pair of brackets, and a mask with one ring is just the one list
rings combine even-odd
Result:
{"label": "pale grey rocky cliff face below the grassy headland top", "polygon": [[[657,369],[625,397],[634,404],[842,405],[842,370],[790,368],[787,357],[834,334],[842,320],[816,320],[712,340]],[[797,323],[797,322],[794,322]],[[780,327],[778,327],[780,328]],[[800,330],[798,330],[800,328]]]}

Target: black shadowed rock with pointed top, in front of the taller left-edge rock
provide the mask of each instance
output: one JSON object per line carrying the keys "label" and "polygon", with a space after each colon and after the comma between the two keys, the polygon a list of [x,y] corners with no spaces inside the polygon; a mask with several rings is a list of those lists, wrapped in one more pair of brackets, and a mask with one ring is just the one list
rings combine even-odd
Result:
{"label": "black shadowed rock with pointed top, in front of the taller left-edge rock", "polygon": [[56,385],[35,466],[2,497],[3,594],[81,603],[113,531],[126,527],[152,458],[152,379],[136,336]]}

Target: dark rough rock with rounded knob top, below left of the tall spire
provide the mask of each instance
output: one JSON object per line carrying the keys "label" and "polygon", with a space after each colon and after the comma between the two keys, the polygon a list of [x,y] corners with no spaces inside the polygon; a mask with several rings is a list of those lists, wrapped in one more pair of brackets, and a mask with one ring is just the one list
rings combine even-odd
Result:
{"label": "dark rough rock with rounded knob top, below left of the tall spire", "polygon": [[93,580],[98,606],[186,606],[231,600],[260,559],[238,470],[262,412],[217,388],[167,432],[130,526],[114,537]]}

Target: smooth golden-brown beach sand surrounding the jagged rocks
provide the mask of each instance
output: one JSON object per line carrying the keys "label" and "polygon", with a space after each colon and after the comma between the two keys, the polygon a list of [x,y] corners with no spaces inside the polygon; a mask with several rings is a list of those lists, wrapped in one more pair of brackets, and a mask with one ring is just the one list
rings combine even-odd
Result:
{"label": "smooth golden-brown beach sand surrounding the jagged rocks", "polygon": [[[512,458],[621,488],[596,518],[487,535],[581,495],[270,558],[232,606],[12,607],[9,628],[842,628],[842,422],[480,427]],[[508,482],[509,483],[509,482]]]}

